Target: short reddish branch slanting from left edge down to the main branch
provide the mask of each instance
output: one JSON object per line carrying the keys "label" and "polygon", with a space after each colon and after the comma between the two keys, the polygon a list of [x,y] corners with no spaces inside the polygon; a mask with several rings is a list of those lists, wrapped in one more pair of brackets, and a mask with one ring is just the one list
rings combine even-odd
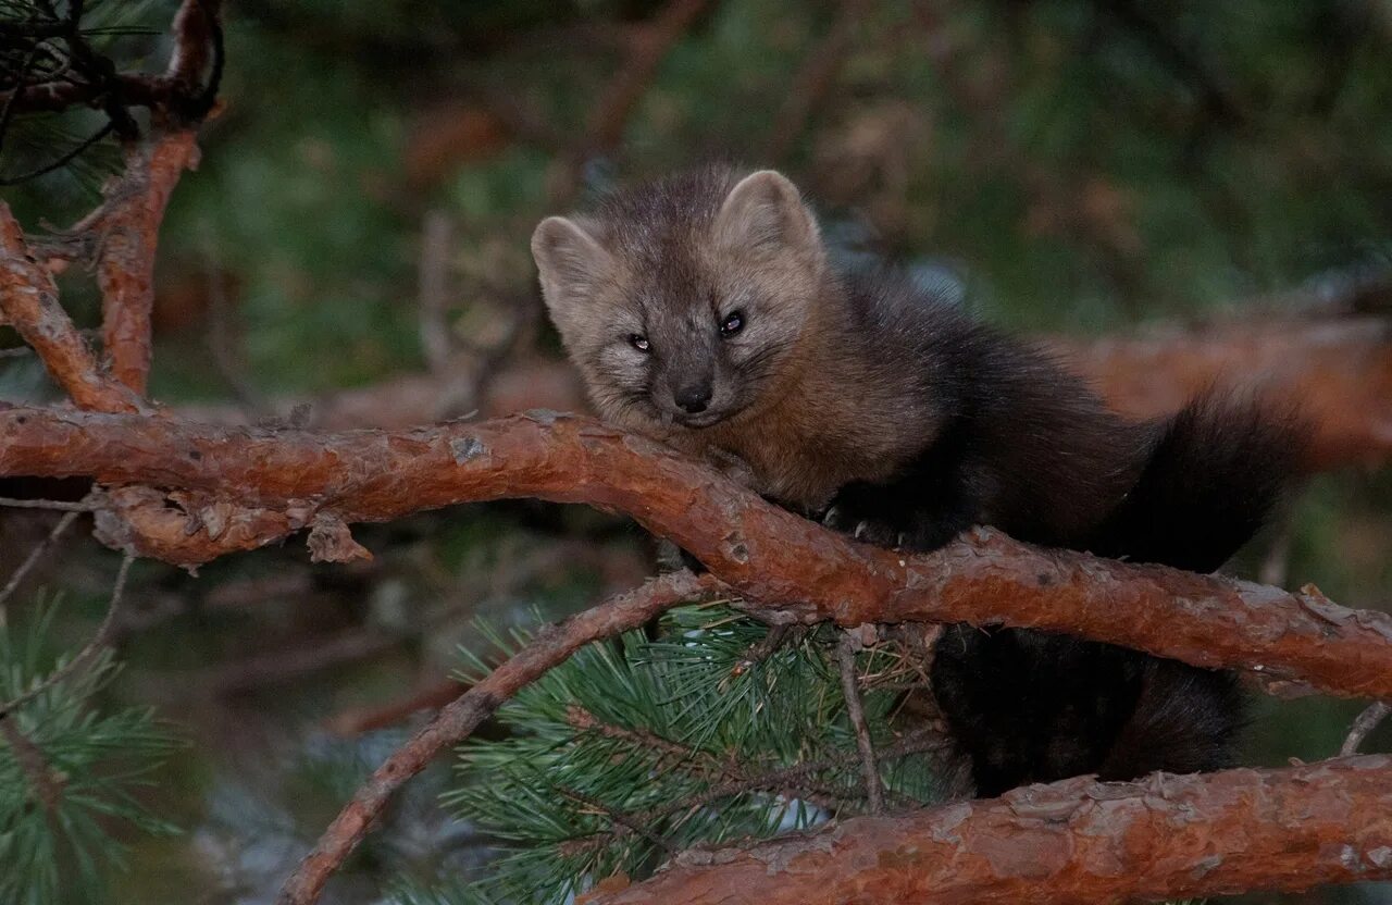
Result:
{"label": "short reddish branch slanting from left edge down to the main branch", "polygon": [[138,397],[102,375],[86,340],[58,305],[53,276],[33,259],[4,202],[0,202],[0,309],[74,402],[107,412],[141,408]]}

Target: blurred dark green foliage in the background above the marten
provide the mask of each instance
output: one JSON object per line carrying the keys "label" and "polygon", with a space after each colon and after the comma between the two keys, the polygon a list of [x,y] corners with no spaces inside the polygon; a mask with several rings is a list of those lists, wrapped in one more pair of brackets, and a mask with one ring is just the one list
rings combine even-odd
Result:
{"label": "blurred dark green foliage in the background above the marten", "polygon": [[[168,6],[141,21],[157,25]],[[462,305],[498,285],[529,292],[525,239],[550,210],[548,164],[583,143],[625,47],[660,8],[232,7],[226,111],[175,195],[164,273],[231,272],[266,390],[419,365],[423,213],[455,214],[475,255],[501,246],[487,273],[459,249],[472,270]],[[711,3],[658,67],[624,142],[592,160],[590,184],[707,156],[782,166],[869,248],[947,263],[973,305],[1029,329],[1192,315],[1392,260],[1385,4],[855,8],[839,77],[785,159],[763,149],[838,3]],[[472,132],[461,127],[470,117]],[[541,135],[514,135],[511,120]],[[24,187],[22,209],[75,216],[86,202],[53,191],[71,178]],[[189,337],[163,338],[175,348],[156,356],[160,393],[217,390],[196,354],[178,354]]]}

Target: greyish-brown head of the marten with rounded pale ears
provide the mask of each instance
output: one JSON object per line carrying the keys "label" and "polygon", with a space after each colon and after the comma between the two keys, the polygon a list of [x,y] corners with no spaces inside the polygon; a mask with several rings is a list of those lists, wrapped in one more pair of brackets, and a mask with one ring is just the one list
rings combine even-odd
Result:
{"label": "greyish-brown head of the marten with rounded pale ears", "polygon": [[827,278],[817,223],[773,170],[702,170],[548,217],[532,255],[600,415],[654,433],[777,394]]}

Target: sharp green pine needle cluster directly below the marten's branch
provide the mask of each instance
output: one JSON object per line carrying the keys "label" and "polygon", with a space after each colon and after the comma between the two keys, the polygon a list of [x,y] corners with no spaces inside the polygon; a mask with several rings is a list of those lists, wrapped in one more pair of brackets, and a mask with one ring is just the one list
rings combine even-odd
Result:
{"label": "sharp green pine needle cluster directly below the marten's branch", "polygon": [[[562,904],[639,880],[674,852],[867,809],[831,627],[770,629],[728,606],[664,617],[657,636],[592,645],[503,707],[501,741],[459,750],[455,813],[496,840],[490,876],[409,904]],[[503,647],[523,642],[515,635]],[[469,656],[465,679],[487,670]],[[940,798],[941,738],[905,718],[909,659],[856,660],[885,801]]]}

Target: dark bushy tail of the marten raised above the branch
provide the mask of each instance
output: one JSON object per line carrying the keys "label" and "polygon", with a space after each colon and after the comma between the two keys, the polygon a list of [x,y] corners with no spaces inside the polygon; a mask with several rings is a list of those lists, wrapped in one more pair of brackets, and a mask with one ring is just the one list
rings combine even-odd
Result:
{"label": "dark bushy tail of the marten raised above the branch", "polygon": [[1261,528],[1304,455],[1293,408],[1208,391],[1155,425],[1130,493],[1086,549],[1211,572]]}

